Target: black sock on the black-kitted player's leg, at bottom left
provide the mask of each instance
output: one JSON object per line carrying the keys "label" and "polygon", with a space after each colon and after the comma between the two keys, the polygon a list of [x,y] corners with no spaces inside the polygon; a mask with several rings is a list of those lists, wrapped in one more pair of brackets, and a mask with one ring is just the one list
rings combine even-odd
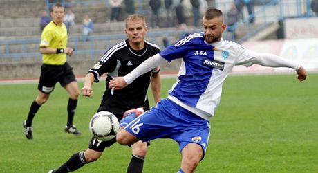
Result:
{"label": "black sock on the black-kitted player's leg, at bottom left", "polygon": [[65,173],[65,172],[72,172],[78,170],[79,168],[83,167],[87,163],[84,151],[78,152],[73,154],[71,158],[66,161],[61,167],[54,171],[54,173]]}

